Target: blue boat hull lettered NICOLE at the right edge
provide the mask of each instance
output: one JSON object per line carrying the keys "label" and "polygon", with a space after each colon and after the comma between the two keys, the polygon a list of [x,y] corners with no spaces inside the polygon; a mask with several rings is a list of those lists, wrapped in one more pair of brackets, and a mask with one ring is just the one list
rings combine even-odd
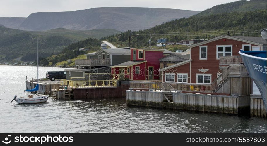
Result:
{"label": "blue boat hull lettered NICOLE at the right edge", "polygon": [[239,51],[249,76],[259,88],[266,107],[266,51]]}

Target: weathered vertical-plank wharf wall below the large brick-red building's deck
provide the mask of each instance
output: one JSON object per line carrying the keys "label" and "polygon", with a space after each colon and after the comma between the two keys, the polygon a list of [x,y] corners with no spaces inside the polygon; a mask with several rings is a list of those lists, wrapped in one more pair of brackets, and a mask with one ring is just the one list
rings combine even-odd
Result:
{"label": "weathered vertical-plank wharf wall below the large brick-red building's deck", "polygon": [[[178,109],[201,112],[214,112],[243,115],[249,114],[250,96],[226,96],[176,93],[169,91],[133,91],[127,90],[127,105],[155,107],[160,109]],[[172,102],[165,94],[172,94]],[[171,96],[171,95],[169,95]]]}

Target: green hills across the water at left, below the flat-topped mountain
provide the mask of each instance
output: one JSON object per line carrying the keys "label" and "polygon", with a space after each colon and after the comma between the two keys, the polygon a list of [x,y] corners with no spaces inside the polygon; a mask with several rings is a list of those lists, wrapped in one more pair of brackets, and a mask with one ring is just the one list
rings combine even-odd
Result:
{"label": "green hills across the water at left, below the flat-topped mountain", "polygon": [[35,60],[37,56],[37,36],[40,37],[39,55],[40,57],[47,57],[61,53],[66,46],[79,40],[89,37],[99,39],[118,32],[114,29],[82,31],[64,28],[34,32],[0,26],[0,61],[11,61],[13,59],[22,61]]}

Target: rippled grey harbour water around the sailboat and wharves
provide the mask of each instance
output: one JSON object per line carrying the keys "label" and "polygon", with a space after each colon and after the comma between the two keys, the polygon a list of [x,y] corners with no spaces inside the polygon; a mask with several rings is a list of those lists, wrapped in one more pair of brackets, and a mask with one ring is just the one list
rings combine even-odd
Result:
{"label": "rippled grey harbour water around the sailboat and wharves", "polygon": [[[10,103],[36,69],[0,66],[0,133],[266,133],[260,118],[127,107],[125,98]],[[40,77],[59,70],[40,67]]]}

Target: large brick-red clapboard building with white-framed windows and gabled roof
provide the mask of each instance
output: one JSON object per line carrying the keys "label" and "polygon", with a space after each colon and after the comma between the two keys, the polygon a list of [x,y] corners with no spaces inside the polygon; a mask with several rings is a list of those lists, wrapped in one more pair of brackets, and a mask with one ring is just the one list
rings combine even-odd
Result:
{"label": "large brick-red clapboard building with white-framed windows and gabled roof", "polygon": [[266,50],[260,37],[218,36],[189,45],[190,59],[160,69],[164,82],[211,84],[227,64],[242,63],[238,52]]}

